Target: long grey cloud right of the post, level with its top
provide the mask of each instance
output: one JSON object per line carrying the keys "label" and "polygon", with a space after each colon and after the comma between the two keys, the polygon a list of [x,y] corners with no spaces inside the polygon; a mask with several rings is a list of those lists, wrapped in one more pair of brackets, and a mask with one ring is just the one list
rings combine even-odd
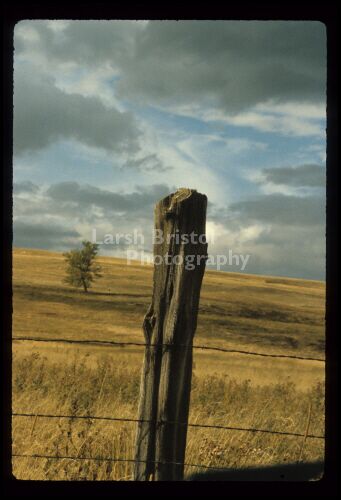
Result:
{"label": "long grey cloud right of the post, level with its top", "polygon": [[229,211],[249,222],[305,226],[325,223],[325,200],[320,196],[285,196],[275,193],[240,201]]}

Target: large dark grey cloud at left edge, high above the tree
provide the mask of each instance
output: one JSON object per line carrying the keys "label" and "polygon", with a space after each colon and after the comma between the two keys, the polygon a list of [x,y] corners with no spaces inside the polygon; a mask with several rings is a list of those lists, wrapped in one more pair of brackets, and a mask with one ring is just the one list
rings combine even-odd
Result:
{"label": "large dark grey cloud at left edge, high above the tree", "polygon": [[14,151],[45,148],[59,139],[74,139],[108,151],[138,149],[133,115],[106,108],[95,97],[66,94],[52,81],[38,80],[22,68],[14,81]]}

